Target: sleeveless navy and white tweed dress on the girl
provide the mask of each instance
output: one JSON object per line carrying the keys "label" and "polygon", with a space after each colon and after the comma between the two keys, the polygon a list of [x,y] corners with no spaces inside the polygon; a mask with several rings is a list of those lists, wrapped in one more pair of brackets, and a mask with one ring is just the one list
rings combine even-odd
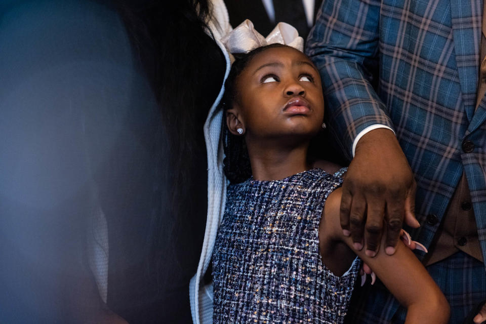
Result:
{"label": "sleeveless navy and white tweed dress on the girl", "polygon": [[335,276],[321,261],[318,231],[344,171],[228,187],[213,252],[215,324],[343,322],[360,261]]}

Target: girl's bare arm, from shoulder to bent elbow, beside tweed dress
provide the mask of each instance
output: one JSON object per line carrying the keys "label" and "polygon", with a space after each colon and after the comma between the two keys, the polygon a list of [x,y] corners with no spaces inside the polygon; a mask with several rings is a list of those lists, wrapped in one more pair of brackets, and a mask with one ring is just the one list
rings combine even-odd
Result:
{"label": "girl's bare arm, from shoulder to bent elbow, beside tweed dress", "polygon": [[[339,257],[339,254],[326,250],[333,247],[342,249],[343,245],[340,242],[344,242],[375,271],[400,304],[407,307],[406,324],[447,323],[450,308],[446,298],[417,257],[401,241],[398,242],[396,253],[391,256],[380,252],[371,258],[365,254],[365,249],[357,251],[353,248],[351,237],[343,235],[339,221],[341,191],[339,188],[329,195],[319,226],[321,254],[326,266],[343,263],[343,254]],[[381,251],[384,249],[385,242],[382,239]],[[336,257],[333,257],[334,255]]]}

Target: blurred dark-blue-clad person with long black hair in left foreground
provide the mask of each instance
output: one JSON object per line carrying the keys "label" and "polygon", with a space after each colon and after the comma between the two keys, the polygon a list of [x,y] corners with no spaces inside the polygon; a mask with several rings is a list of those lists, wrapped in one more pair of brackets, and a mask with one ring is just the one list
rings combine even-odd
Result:
{"label": "blurred dark-blue-clad person with long black hair in left foreground", "polygon": [[191,321],[225,67],[210,9],[2,2],[0,322]]}

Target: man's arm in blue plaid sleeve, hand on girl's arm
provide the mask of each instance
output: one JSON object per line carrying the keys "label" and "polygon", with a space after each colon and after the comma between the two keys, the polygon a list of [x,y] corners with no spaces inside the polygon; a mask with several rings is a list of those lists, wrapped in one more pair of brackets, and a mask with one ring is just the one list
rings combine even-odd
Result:
{"label": "man's arm in blue plaid sleeve, hand on girl's arm", "polygon": [[383,219],[388,254],[395,251],[404,217],[408,225],[419,225],[413,174],[373,88],[379,14],[378,1],[323,2],[307,42],[307,54],[322,79],[330,132],[352,159],[343,183],[341,226],[355,248],[366,245],[370,256],[378,252]]}

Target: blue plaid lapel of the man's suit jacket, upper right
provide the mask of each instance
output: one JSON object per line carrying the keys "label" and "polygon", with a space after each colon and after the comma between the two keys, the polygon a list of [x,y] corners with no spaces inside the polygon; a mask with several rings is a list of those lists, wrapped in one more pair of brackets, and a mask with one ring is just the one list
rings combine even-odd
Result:
{"label": "blue plaid lapel of the man's suit jacket, upper right", "polygon": [[462,99],[469,121],[476,104],[482,1],[451,0],[451,17]]}

